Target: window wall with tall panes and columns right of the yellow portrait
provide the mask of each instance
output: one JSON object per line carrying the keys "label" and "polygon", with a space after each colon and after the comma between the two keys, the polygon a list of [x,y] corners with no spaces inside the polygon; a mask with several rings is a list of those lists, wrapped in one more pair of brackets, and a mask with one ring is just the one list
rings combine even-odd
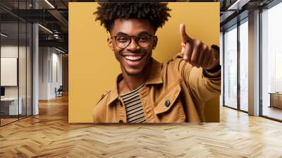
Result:
{"label": "window wall with tall panes and columns right of the yellow portrait", "polygon": [[227,13],[221,16],[221,105],[281,121],[282,4],[249,1],[242,8],[227,22],[222,21]]}

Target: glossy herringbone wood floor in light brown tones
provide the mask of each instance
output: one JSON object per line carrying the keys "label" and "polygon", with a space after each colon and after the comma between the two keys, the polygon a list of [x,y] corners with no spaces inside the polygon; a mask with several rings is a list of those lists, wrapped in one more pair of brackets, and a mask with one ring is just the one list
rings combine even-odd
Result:
{"label": "glossy herringbone wood floor in light brown tones", "polygon": [[0,157],[282,157],[282,123],[221,107],[221,123],[68,123],[68,99],[0,128]]}

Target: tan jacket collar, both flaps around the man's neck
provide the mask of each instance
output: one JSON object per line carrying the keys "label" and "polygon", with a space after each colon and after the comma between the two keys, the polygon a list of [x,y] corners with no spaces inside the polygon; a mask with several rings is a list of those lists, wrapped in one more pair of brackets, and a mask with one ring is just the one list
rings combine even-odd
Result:
{"label": "tan jacket collar, both flaps around the man's neck", "polygon": [[[159,61],[156,61],[152,58],[151,67],[149,76],[145,82],[145,85],[154,85],[154,84],[160,84],[163,83],[163,80],[161,78],[161,67],[162,64],[159,63]],[[111,87],[111,90],[109,92],[109,102],[108,105],[111,104],[111,102],[114,102],[119,95],[118,95],[118,83],[123,80],[123,74],[120,73],[118,77],[116,78],[115,84]]]}

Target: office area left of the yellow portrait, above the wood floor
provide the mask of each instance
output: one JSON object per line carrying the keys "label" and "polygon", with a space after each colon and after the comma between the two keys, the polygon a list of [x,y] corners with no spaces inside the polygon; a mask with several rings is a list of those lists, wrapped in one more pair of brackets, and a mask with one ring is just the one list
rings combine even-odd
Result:
{"label": "office area left of the yellow portrait, above the wood floor", "polygon": [[38,115],[39,101],[68,93],[67,4],[57,11],[47,1],[0,2],[0,126]]}

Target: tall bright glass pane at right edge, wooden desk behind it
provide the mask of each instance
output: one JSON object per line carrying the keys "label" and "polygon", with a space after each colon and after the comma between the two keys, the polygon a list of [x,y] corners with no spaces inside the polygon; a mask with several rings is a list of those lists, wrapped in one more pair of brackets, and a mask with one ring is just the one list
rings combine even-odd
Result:
{"label": "tall bright glass pane at right edge, wooden desk behind it", "polygon": [[262,116],[282,121],[282,3],[262,12]]}

